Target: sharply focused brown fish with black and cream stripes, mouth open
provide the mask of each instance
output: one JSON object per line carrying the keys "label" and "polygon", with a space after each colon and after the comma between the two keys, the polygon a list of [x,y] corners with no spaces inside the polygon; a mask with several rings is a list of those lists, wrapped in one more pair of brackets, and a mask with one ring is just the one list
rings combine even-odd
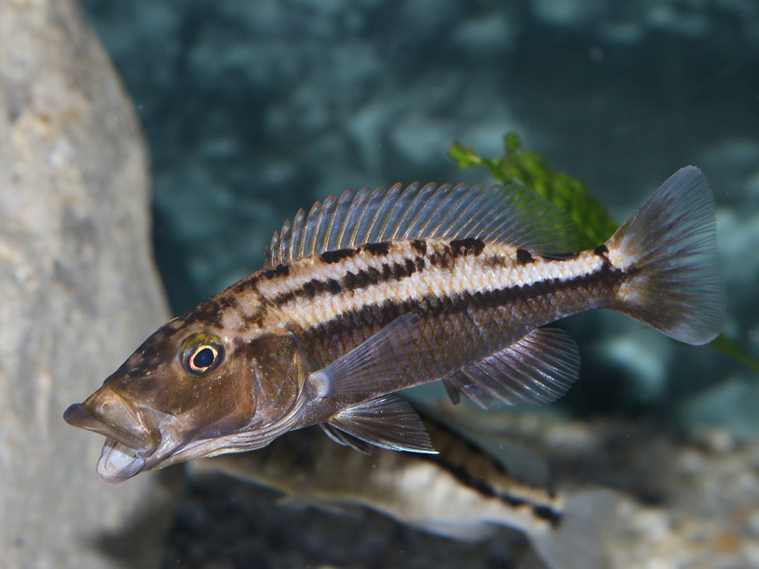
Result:
{"label": "sharply focused brown fish with black and cream stripes, mouth open", "polygon": [[688,344],[718,335],[725,289],[712,193],[677,171],[592,250],[522,184],[346,190],[275,233],[263,269],[172,319],[65,410],[106,436],[120,483],[320,425],[335,442],[435,453],[398,391],[544,404],[578,379],[552,322],[612,309]]}

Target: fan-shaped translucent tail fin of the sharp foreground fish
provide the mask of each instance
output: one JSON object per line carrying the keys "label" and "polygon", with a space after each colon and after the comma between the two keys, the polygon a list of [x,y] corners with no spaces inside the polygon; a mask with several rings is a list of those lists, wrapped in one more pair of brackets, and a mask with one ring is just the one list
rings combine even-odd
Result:
{"label": "fan-shaped translucent tail fin of the sharp foreground fish", "polygon": [[676,171],[608,241],[628,275],[613,307],[688,344],[716,338],[725,285],[716,250],[714,200],[695,166]]}

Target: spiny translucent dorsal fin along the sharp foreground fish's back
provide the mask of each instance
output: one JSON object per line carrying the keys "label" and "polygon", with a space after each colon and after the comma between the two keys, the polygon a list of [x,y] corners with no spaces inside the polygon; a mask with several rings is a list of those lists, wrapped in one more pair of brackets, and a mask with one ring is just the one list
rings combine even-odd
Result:
{"label": "spiny translucent dorsal fin along the sharp foreground fish's back", "polygon": [[364,188],[329,196],[301,209],[274,234],[266,268],[325,251],[402,239],[477,238],[533,253],[578,250],[567,215],[548,200],[515,182],[508,186],[414,183],[389,190]]}

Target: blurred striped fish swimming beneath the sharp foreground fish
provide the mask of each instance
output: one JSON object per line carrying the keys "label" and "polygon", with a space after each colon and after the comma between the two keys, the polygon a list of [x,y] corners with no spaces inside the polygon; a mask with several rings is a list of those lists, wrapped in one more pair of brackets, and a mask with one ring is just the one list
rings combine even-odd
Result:
{"label": "blurred striped fish swimming beneath the sharp foreground fish", "polygon": [[274,489],[282,505],[348,515],[370,509],[458,541],[480,542],[509,527],[551,569],[608,566],[603,538],[616,523],[615,492],[526,483],[473,439],[414,409],[439,454],[357,453],[332,444],[318,429],[300,429],[257,451],[194,461],[191,474],[222,474]]}

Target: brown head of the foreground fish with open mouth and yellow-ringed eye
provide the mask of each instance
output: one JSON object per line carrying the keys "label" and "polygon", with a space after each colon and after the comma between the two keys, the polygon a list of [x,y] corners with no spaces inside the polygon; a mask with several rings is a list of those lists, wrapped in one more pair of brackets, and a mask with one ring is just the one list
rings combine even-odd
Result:
{"label": "brown head of the foreground fish with open mouth and yellow-ringed eye", "polygon": [[184,316],[150,336],[64,419],[106,436],[99,476],[267,445],[304,408],[308,366],[293,335],[250,337]]}

